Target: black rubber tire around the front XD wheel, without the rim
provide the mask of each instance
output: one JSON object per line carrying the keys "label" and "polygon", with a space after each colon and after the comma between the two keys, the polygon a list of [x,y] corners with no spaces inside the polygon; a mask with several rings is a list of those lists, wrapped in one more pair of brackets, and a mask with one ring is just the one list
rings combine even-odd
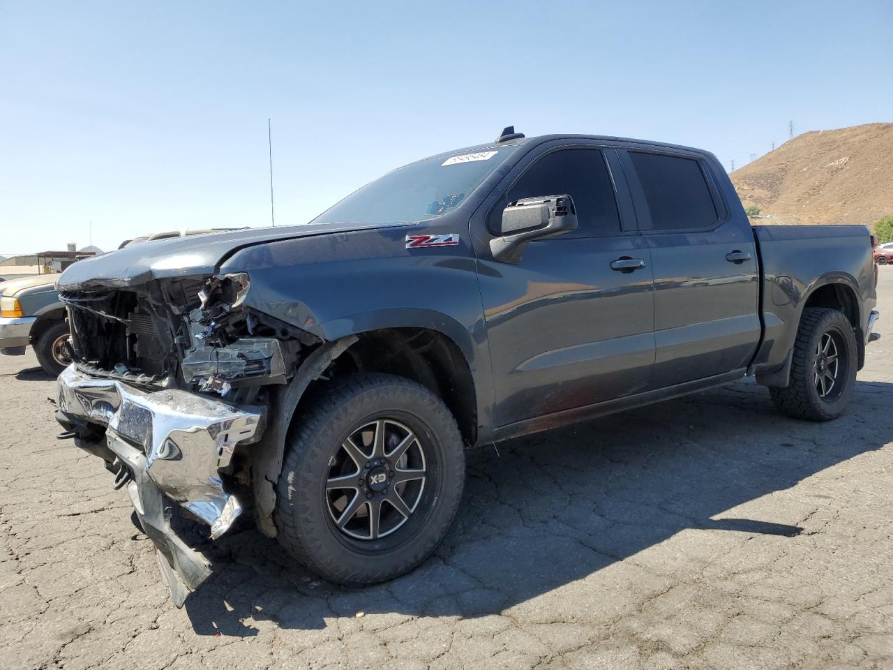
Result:
{"label": "black rubber tire around the front XD wheel, without the rim", "polygon": [[[330,458],[358,425],[383,416],[411,425],[427,440],[427,507],[413,512],[391,536],[350,540],[335,527],[326,503]],[[393,579],[430,556],[453,523],[465,478],[462,436],[440,398],[403,377],[354,374],[332,381],[297,417],[296,426],[286,445],[274,515],[288,554],[324,579],[347,586]]]}

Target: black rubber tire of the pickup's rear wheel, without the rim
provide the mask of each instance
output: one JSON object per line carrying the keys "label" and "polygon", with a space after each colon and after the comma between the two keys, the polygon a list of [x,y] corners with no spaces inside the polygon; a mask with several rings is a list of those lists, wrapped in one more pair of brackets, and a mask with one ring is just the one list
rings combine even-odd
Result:
{"label": "black rubber tire of the pickup's rear wheel, without the rim", "polygon": [[[844,351],[839,353],[846,369],[839,373],[843,388],[832,401],[819,395],[814,382],[815,349],[826,332],[839,333]],[[858,348],[853,325],[837,309],[809,307],[804,310],[794,343],[794,355],[790,368],[789,386],[784,389],[770,388],[772,401],[784,414],[808,421],[830,421],[842,415],[855,386],[858,364]]]}

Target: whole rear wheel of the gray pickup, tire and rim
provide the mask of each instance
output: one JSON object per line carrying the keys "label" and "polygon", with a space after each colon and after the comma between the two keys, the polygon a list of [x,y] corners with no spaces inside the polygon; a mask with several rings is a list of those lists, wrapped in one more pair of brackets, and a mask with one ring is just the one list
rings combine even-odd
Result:
{"label": "whole rear wheel of the gray pickup, tire and rim", "polygon": [[797,419],[836,419],[853,393],[857,358],[853,326],[846,316],[836,309],[805,309],[789,386],[769,389],[775,406]]}

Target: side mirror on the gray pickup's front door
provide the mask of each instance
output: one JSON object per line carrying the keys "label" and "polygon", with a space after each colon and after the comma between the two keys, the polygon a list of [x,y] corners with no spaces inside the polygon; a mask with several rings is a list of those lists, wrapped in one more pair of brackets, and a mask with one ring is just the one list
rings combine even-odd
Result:
{"label": "side mirror on the gray pickup's front door", "polygon": [[503,210],[499,237],[490,240],[497,261],[518,264],[531,239],[551,238],[577,230],[577,211],[570,196],[525,197]]}

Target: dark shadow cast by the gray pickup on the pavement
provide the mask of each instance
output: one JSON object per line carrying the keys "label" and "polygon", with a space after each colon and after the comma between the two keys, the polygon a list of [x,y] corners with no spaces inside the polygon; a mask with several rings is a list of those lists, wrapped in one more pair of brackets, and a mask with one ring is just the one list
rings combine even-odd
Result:
{"label": "dark shadow cast by the gray pickup on the pavement", "polygon": [[[256,634],[251,620],[314,629],[360,611],[484,616],[685,529],[794,537],[796,525],[722,514],[893,440],[893,426],[872,416],[890,386],[857,382],[835,423],[777,415],[764,389],[742,382],[514,440],[498,454],[481,449],[469,454],[453,529],[413,573],[344,589],[296,566],[275,540],[240,532],[200,540],[216,574],[185,607],[197,633],[238,636]],[[194,528],[184,539],[199,532],[206,538]]]}

